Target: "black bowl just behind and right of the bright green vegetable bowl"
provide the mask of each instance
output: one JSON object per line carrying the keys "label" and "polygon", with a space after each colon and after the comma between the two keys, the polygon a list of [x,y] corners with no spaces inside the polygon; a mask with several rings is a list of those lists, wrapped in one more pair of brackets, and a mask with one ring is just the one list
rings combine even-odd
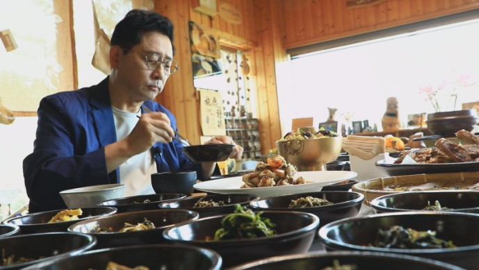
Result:
{"label": "black bowl just behind and right of the bright green vegetable bowl", "polygon": [[[305,196],[313,196],[332,202],[332,205],[316,206],[310,208],[288,208],[291,200]],[[319,217],[320,227],[325,224],[346,217],[356,217],[361,209],[364,195],[357,192],[307,192],[299,194],[287,194],[271,196],[269,198],[252,201],[250,208],[254,211],[298,211],[316,214]]]}

